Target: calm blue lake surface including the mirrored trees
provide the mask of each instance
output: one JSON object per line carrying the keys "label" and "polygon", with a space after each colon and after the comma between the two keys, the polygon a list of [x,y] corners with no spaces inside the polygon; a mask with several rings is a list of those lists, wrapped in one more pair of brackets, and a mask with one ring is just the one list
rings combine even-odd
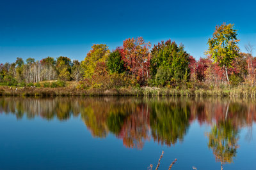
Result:
{"label": "calm blue lake surface including the mirrored trees", "polygon": [[0,97],[0,169],[256,169],[255,99]]}

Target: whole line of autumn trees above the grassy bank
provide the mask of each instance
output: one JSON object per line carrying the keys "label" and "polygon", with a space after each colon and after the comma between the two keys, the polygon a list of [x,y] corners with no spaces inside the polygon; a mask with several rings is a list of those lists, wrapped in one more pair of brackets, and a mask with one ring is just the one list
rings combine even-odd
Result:
{"label": "whole line of autumn trees above the grassy bank", "polygon": [[[83,61],[68,57],[32,58],[0,64],[0,81],[5,85],[61,80],[79,81],[78,87],[175,87],[204,88],[255,85],[256,58],[253,46],[240,52],[234,24],[217,25],[209,38],[207,57],[196,60],[170,39],[151,48],[142,37],[125,39],[112,52],[107,45],[95,44]],[[38,85],[39,86],[39,85]]]}

